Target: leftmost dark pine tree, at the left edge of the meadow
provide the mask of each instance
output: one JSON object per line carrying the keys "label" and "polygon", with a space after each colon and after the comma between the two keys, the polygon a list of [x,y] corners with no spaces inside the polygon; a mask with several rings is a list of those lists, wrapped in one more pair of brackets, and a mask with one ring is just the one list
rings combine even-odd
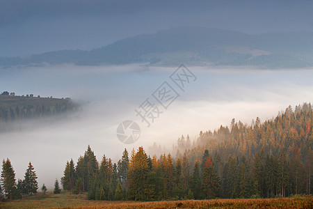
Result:
{"label": "leftmost dark pine tree, at the left edge of the meadow", "polygon": [[17,189],[15,183],[15,172],[8,158],[6,161],[3,160],[2,162],[1,182],[6,197],[11,200],[15,198],[15,190]]}

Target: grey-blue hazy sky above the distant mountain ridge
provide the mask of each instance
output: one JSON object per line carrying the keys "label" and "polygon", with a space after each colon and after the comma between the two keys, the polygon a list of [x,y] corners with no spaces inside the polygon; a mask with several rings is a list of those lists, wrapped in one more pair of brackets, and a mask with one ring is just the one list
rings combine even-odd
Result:
{"label": "grey-blue hazy sky above the distant mountain ridge", "polygon": [[0,56],[93,49],[172,26],[312,31],[312,10],[310,0],[2,0]]}

